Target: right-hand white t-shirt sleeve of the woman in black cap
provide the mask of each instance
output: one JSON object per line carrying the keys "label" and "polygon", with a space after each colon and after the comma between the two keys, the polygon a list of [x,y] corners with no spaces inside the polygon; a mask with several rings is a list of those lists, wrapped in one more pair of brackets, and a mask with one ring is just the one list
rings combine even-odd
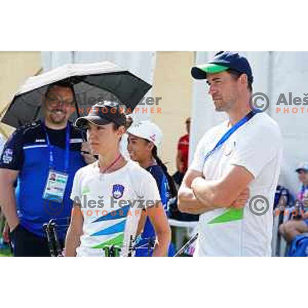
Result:
{"label": "right-hand white t-shirt sleeve of the woman in black cap", "polygon": [[145,200],[144,206],[150,207],[155,205],[158,201],[161,201],[159,189],[157,187],[156,180],[152,177],[150,172],[144,170],[139,177],[138,198]]}

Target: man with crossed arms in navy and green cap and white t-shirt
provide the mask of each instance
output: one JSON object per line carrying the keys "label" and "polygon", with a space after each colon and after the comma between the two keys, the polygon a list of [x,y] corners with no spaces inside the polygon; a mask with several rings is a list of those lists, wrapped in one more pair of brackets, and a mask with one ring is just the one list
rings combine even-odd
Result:
{"label": "man with crossed arms in navy and green cap and white t-shirt", "polygon": [[194,256],[271,256],[279,126],[249,105],[254,78],[239,53],[218,52],[191,75],[206,80],[215,110],[228,115],[199,142],[179,189],[179,209],[200,214]]}

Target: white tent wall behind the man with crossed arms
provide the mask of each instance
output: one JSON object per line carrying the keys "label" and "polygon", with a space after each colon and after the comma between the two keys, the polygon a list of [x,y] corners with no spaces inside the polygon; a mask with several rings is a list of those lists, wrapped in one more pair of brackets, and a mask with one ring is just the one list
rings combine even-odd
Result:
{"label": "white tent wall behind the man with crossed arms", "polygon": [[[215,52],[197,52],[196,63],[202,64],[210,60]],[[280,105],[277,101],[280,93],[288,100],[292,97],[303,99],[308,94],[308,52],[241,52],[251,63],[254,84],[253,93],[262,92],[269,98],[267,113],[277,121],[283,135],[284,159],[279,183],[295,193],[299,188],[295,168],[300,162],[308,161],[308,106]],[[198,141],[210,127],[226,118],[217,113],[207,94],[204,81],[194,82],[192,108],[192,127],[189,149],[189,160],[196,149]],[[277,111],[277,107],[281,111]],[[292,111],[292,108],[297,107]],[[283,112],[283,108],[285,112]],[[302,112],[302,109],[303,113]],[[266,133],[266,132],[264,132]]]}

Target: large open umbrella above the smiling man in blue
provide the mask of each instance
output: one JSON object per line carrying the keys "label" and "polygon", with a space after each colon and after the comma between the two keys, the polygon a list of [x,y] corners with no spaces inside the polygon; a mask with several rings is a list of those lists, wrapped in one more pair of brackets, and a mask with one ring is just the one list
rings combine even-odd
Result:
{"label": "large open umbrella above the smiling man in blue", "polygon": [[151,85],[110,62],[66,64],[38,76],[30,77],[15,95],[1,122],[13,127],[42,117],[42,102],[49,85],[65,81],[72,84],[76,101],[74,121],[86,114],[95,101],[117,101],[131,111]]}

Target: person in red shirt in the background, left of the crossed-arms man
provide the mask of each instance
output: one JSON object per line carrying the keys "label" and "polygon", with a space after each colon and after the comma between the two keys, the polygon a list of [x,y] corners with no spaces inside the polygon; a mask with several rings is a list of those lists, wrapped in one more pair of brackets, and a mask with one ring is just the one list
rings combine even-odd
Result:
{"label": "person in red shirt in the background, left of the crossed-arms man", "polygon": [[178,142],[177,151],[177,172],[175,174],[175,181],[178,185],[181,184],[185,172],[188,168],[188,152],[189,152],[189,131],[190,131],[190,118],[185,121],[187,134],[182,136]]}

